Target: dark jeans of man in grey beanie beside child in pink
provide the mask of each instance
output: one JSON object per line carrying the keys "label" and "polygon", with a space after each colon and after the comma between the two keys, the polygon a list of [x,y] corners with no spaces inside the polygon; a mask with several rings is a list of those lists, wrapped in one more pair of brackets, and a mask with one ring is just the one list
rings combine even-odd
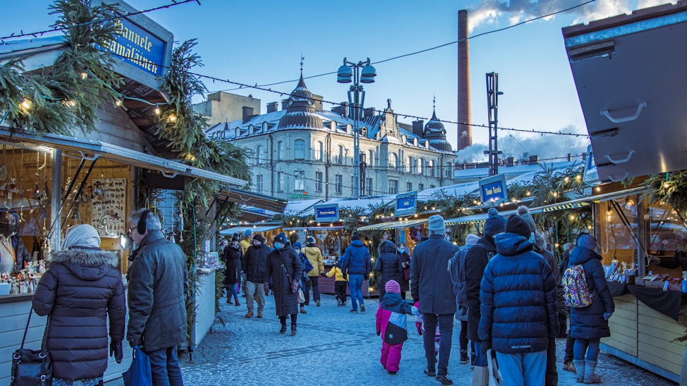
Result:
{"label": "dark jeans of man in grey beanie beside child in pink", "polygon": [[439,323],[439,365],[437,374],[446,375],[449,367],[449,357],[451,356],[451,340],[453,339],[453,314],[424,313],[423,323],[425,324],[425,357],[427,358],[427,368],[434,369],[434,335],[431,331],[436,331],[436,324]]}

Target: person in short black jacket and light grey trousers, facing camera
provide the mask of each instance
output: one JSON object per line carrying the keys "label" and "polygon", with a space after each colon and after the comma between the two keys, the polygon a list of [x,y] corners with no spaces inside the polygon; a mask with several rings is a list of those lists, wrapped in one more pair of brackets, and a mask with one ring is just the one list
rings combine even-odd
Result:
{"label": "person in short black jacket and light grey trousers, facing camera", "polygon": [[262,317],[265,296],[269,291],[269,276],[267,275],[267,255],[271,252],[261,234],[253,237],[253,245],[243,256],[242,267],[246,273],[246,317],[253,317],[254,301],[258,303],[258,317]]}

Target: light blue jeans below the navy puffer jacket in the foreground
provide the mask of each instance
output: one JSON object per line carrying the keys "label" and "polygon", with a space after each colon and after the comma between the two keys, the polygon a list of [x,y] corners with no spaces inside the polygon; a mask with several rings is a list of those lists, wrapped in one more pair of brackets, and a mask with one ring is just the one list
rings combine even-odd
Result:
{"label": "light blue jeans below the navy puffer jacket in the foreground", "polygon": [[508,386],[541,386],[546,372],[546,351],[525,354],[496,352],[499,370]]}

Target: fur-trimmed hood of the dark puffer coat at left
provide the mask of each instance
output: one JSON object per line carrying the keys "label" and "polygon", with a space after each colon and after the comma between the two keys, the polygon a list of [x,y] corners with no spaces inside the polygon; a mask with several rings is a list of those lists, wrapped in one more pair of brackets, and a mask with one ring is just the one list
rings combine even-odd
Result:
{"label": "fur-trimmed hood of the dark puffer coat at left", "polygon": [[80,248],[52,252],[48,262],[64,265],[83,280],[98,280],[109,272],[110,267],[117,267],[119,263],[113,252]]}

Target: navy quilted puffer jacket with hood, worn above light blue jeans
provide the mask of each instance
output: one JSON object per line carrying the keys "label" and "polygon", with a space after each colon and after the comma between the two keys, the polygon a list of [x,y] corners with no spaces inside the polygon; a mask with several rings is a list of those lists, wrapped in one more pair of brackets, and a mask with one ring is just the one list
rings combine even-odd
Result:
{"label": "navy quilted puffer jacket with hood, worn above light blue jeans", "polygon": [[519,234],[499,234],[495,243],[499,253],[486,266],[480,290],[480,340],[506,354],[545,351],[559,333],[551,266]]}

